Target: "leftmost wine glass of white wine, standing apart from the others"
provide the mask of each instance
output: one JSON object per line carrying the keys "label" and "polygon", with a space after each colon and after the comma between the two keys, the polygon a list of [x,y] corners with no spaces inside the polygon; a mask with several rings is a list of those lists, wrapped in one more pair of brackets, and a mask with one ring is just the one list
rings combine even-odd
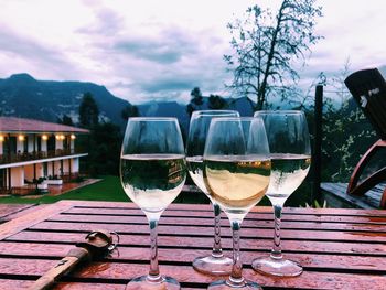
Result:
{"label": "leftmost wine glass of white wine, standing apart from the others", "polygon": [[120,181],[126,194],[146,214],[150,225],[150,270],[132,279],[131,289],[181,289],[161,276],[158,266],[157,225],[162,212],[181,192],[186,178],[184,147],[175,118],[130,118],[120,157]]}

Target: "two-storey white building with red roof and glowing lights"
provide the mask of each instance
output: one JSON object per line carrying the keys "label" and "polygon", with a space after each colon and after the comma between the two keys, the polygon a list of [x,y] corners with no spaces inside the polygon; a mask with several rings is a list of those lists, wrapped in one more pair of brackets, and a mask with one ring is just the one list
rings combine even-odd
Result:
{"label": "two-storey white building with red roof and glowing lights", "polygon": [[65,179],[79,172],[75,147],[86,129],[14,117],[0,117],[0,192],[22,189],[39,178]]}

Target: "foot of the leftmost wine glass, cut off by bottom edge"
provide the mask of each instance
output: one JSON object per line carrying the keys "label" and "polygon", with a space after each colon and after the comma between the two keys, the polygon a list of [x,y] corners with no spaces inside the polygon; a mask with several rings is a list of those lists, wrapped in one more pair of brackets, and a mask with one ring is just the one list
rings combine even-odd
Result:
{"label": "foot of the leftmost wine glass, cut off by bottom edge", "polygon": [[171,278],[162,276],[159,282],[153,282],[148,279],[148,276],[142,276],[132,279],[125,288],[126,290],[180,290],[180,283]]}

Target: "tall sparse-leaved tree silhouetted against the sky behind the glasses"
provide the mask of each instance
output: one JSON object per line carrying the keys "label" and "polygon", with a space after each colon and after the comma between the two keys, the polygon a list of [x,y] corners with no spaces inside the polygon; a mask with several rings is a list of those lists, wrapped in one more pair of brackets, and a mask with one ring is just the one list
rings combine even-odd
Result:
{"label": "tall sparse-leaved tree silhouetted against the sky behind the glasses", "polygon": [[296,92],[299,75],[294,62],[304,64],[310,45],[321,39],[314,35],[314,26],[322,8],[315,7],[315,0],[283,0],[275,17],[270,9],[258,6],[246,12],[245,20],[228,24],[234,54],[224,55],[224,60],[234,74],[228,87],[243,96],[255,96],[256,109],[261,109],[270,95],[286,98]]}

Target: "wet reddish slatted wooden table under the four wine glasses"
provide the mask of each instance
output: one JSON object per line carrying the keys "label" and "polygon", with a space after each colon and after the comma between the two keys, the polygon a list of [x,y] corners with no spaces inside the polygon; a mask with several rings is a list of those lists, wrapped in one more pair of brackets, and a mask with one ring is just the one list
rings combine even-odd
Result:
{"label": "wet reddish slatted wooden table under the four wine glasses", "polygon": [[[208,205],[173,204],[159,225],[161,272],[176,278],[182,289],[205,289],[216,280],[195,272],[193,258],[210,254],[213,218]],[[223,219],[223,247],[230,254],[228,221]],[[282,247],[304,272],[272,278],[250,268],[272,244],[270,207],[255,207],[243,223],[242,248],[247,278],[265,289],[386,289],[386,211],[286,208]],[[125,289],[147,273],[149,229],[130,203],[62,201],[0,226],[0,289],[23,289],[54,266],[89,230],[120,235],[119,253],[63,278],[55,289]]]}

